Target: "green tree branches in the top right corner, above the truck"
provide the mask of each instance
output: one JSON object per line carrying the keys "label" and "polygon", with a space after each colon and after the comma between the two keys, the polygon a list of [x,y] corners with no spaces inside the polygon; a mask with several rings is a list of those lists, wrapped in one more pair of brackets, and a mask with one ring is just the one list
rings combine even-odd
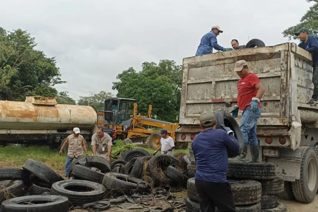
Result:
{"label": "green tree branches in the top right corner, above the truck", "polygon": [[297,39],[298,37],[295,36],[294,33],[303,27],[307,28],[312,35],[318,36],[318,0],[306,1],[315,3],[309,7],[309,10],[301,17],[299,24],[291,26],[282,32],[285,38],[287,37],[289,40],[292,38]]}

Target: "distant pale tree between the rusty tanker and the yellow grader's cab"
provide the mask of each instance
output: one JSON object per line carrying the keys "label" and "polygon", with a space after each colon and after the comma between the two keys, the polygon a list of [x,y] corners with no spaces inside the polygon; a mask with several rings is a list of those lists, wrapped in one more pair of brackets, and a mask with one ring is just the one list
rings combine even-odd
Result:
{"label": "distant pale tree between the rusty tanker and the yellow grader's cab", "polygon": [[96,94],[92,94],[89,96],[80,96],[78,105],[89,105],[93,107],[95,110],[103,111],[104,110],[104,101],[105,99],[113,97],[111,92],[101,91]]}

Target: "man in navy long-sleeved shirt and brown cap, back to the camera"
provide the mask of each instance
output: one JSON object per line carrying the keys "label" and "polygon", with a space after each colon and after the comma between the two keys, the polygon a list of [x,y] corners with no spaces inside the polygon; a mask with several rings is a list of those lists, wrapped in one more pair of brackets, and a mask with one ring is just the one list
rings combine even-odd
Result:
{"label": "man in navy long-sleeved shirt and brown cap, back to the camera", "polygon": [[228,151],[239,152],[239,142],[229,127],[216,129],[213,113],[199,117],[203,129],[192,141],[191,147],[197,162],[195,185],[202,212],[235,212],[231,185],[226,174]]}

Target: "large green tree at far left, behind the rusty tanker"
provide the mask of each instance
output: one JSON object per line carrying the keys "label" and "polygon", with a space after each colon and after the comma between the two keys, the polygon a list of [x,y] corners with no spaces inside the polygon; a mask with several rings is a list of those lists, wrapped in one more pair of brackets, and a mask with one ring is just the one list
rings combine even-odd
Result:
{"label": "large green tree at far left, behind the rusty tanker", "polygon": [[0,99],[24,101],[30,95],[59,95],[53,86],[66,81],[61,80],[55,58],[35,50],[36,45],[26,31],[0,28]]}

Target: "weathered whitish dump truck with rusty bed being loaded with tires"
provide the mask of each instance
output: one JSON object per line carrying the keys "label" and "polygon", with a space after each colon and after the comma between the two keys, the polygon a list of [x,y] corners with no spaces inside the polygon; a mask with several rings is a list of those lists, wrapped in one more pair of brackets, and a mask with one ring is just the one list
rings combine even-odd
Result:
{"label": "weathered whitish dump truck with rusty bed being loaded with tires", "polygon": [[[183,58],[176,141],[194,139],[201,131],[198,120],[201,113],[231,112],[237,104],[239,77],[233,69],[238,60],[246,60],[249,71],[265,87],[257,123],[259,159],[275,164],[276,175],[284,179],[285,190],[292,190],[296,200],[313,201],[318,188],[318,106],[306,104],[313,94],[312,57],[297,44]],[[241,114],[242,111],[236,118],[238,123]],[[193,154],[191,158],[192,162]]]}

